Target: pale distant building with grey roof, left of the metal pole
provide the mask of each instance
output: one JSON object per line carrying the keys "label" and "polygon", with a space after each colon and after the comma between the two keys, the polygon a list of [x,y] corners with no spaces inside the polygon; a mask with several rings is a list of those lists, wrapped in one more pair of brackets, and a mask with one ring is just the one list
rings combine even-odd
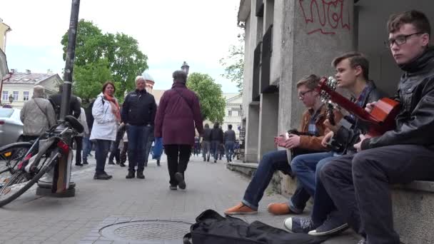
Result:
{"label": "pale distant building with grey roof, left of the metal pole", "polygon": [[33,88],[36,85],[44,86],[46,96],[50,96],[59,91],[59,86],[63,83],[57,73],[25,73],[16,72],[12,69],[1,83],[0,95],[1,104],[9,104],[9,96],[14,98],[11,105],[14,108],[22,108],[24,102],[33,96]]}

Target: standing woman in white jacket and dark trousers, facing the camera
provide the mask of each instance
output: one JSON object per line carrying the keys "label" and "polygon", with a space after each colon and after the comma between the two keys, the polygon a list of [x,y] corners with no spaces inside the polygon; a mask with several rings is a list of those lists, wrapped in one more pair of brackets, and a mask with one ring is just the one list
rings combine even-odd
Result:
{"label": "standing woman in white jacket and dark trousers, facing the camera", "polygon": [[94,116],[94,126],[91,131],[91,141],[95,142],[96,169],[95,180],[109,180],[109,176],[104,168],[109,154],[111,141],[116,139],[116,127],[121,121],[118,101],[114,97],[115,87],[113,82],[104,83],[102,93],[100,93],[92,107]]}

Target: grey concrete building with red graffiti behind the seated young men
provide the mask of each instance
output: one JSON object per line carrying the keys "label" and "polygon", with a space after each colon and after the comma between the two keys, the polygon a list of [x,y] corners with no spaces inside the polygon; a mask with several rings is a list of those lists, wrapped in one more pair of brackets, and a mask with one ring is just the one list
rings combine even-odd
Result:
{"label": "grey concrete building with red graffiti behind the seated young men", "polygon": [[258,162],[276,150],[274,136],[298,128],[305,108],[298,100],[297,81],[311,73],[333,75],[330,63],[335,56],[363,52],[370,61],[369,78],[394,93],[402,72],[383,44],[388,17],[418,9],[434,23],[433,5],[406,0],[241,0],[246,161]]}

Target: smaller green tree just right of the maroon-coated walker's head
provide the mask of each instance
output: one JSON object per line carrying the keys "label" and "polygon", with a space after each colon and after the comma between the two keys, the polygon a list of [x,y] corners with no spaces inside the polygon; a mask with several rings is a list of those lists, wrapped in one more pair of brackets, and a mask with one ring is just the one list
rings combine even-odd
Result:
{"label": "smaller green tree just right of the maroon-coated walker's head", "polygon": [[226,101],[223,98],[221,85],[206,73],[191,73],[188,75],[187,86],[199,97],[203,120],[208,118],[210,121],[222,123]]}

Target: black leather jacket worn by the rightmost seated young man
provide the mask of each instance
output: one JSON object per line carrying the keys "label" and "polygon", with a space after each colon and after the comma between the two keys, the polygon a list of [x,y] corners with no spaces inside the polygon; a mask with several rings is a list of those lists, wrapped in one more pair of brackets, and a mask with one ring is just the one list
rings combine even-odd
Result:
{"label": "black leather jacket worn by the rightmost seated young man", "polygon": [[400,113],[396,128],[382,136],[366,139],[362,149],[416,144],[434,148],[434,49],[405,65],[398,85]]}

